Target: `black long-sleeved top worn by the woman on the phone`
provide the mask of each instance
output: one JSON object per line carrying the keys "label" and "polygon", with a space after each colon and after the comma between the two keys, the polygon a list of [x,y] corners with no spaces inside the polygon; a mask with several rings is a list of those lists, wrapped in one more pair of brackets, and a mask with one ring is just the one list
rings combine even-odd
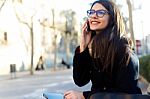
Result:
{"label": "black long-sleeved top worn by the woman on the phone", "polygon": [[128,94],[141,94],[138,87],[139,60],[132,53],[128,66],[118,68],[115,66],[115,72],[110,78],[107,73],[98,71],[92,65],[92,58],[88,49],[78,53],[77,47],[73,59],[73,79],[76,85],[82,87],[92,82],[91,91],[84,91],[83,95],[87,99],[95,92],[121,92]]}

